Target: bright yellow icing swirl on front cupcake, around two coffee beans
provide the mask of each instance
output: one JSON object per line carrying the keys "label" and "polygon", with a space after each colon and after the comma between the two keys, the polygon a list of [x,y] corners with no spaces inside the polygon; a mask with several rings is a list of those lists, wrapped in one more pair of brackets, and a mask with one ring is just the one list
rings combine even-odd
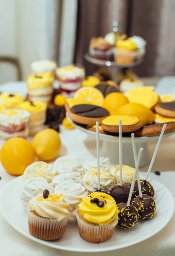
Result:
{"label": "bright yellow icing swirl on front cupcake, around two coffee beans", "polygon": [[[92,198],[103,201],[104,206],[98,207],[97,204],[91,203]],[[118,216],[118,207],[114,198],[102,192],[93,192],[85,196],[78,207],[83,218],[100,226],[110,224]]]}

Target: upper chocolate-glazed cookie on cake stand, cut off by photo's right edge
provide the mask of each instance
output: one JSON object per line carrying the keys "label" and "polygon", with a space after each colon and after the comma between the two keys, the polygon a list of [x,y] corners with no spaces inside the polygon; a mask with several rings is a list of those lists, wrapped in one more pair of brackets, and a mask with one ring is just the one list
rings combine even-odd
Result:
{"label": "upper chocolate-glazed cookie on cake stand, cut off by photo's right edge", "polygon": [[175,102],[160,102],[155,106],[155,112],[161,116],[175,118]]}

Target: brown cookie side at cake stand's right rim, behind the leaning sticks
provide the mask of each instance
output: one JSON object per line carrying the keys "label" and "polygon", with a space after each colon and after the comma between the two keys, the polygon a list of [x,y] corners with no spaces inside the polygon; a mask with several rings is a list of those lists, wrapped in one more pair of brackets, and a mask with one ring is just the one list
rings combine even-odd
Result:
{"label": "brown cookie side at cake stand's right rim, behind the leaning sticks", "polygon": [[[164,126],[164,123],[143,126],[143,128],[139,129],[138,131],[135,131],[134,134],[135,134],[135,137],[159,136],[161,134],[163,126]],[[164,133],[166,134],[172,131],[175,131],[175,122],[166,123],[166,128]]]}

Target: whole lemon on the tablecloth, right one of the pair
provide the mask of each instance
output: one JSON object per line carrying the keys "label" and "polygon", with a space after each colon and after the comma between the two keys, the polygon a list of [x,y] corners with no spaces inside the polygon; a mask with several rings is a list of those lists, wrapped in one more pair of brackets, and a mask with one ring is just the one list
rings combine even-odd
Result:
{"label": "whole lemon on the tablecloth, right one of the pair", "polygon": [[40,160],[49,161],[57,157],[61,140],[57,131],[44,129],[34,136],[32,146]]}

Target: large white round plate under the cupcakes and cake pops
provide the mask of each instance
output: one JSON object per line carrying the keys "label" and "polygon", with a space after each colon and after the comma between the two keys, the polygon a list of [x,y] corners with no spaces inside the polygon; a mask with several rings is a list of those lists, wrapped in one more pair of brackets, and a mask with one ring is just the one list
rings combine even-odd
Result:
{"label": "large white round plate under the cupcakes and cake pops", "polygon": [[56,241],[43,241],[30,235],[27,213],[20,203],[20,190],[23,176],[11,180],[0,196],[0,208],[4,218],[22,235],[49,247],[75,252],[104,252],[137,244],[162,230],[170,221],[174,212],[174,200],[169,190],[158,181],[151,180],[155,188],[157,211],[149,221],[139,221],[128,230],[115,228],[114,234],[106,242],[88,243],[80,238],[77,224],[68,223],[63,237]]}

